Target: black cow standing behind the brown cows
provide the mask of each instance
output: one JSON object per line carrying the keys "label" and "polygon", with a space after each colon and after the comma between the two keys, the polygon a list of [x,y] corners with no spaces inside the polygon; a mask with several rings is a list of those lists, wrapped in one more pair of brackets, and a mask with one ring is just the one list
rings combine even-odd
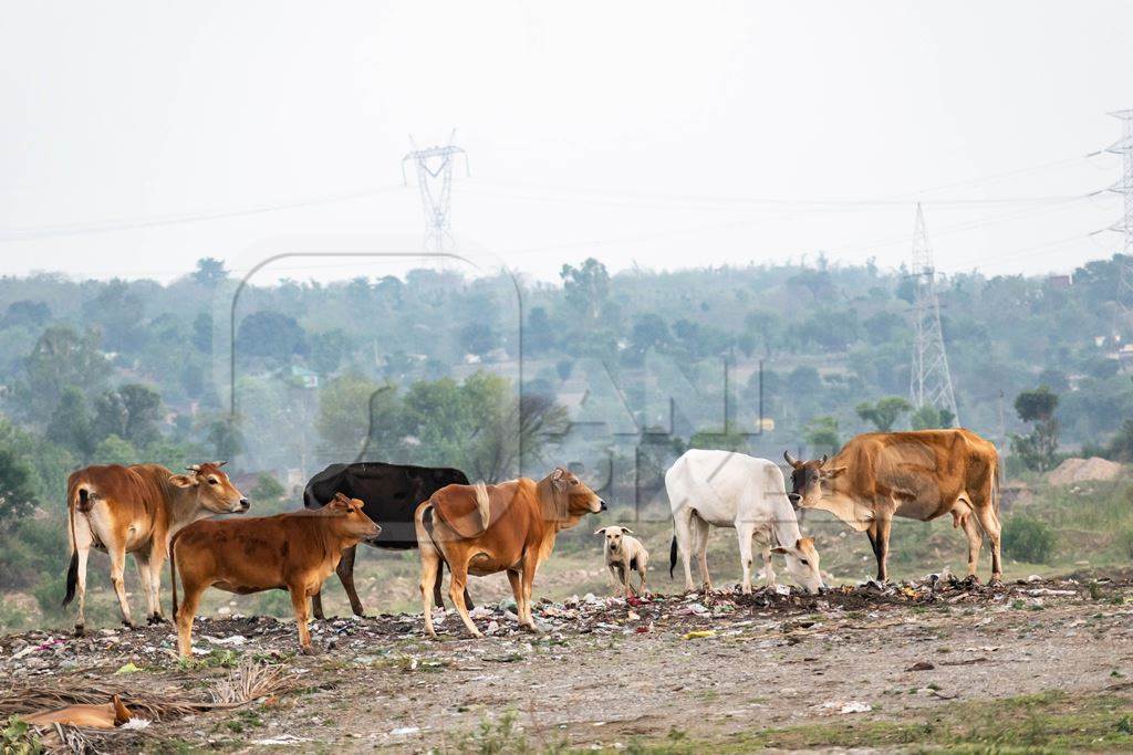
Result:
{"label": "black cow standing behind the brown cows", "polygon": [[[417,533],[414,530],[414,512],[417,505],[452,483],[468,484],[468,478],[460,470],[445,467],[381,462],[331,464],[310,478],[303,491],[303,505],[307,508],[321,508],[333,499],[337,492],[359,498],[366,504],[363,508],[366,515],[382,525],[382,533],[372,544],[392,550],[408,550],[417,547]],[[357,546],[342,551],[342,559],[335,572],[350,598],[350,609],[355,616],[365,616],[353,584],[356,548]],[[436,584],[433,586],[433,597],[437,606],[444,606],[441,602],[442,570],[437,572]],[[467,590],[465,602],[471,606]],[[315,618],[324,618],[321,593],[315,593],[312,606]]]}

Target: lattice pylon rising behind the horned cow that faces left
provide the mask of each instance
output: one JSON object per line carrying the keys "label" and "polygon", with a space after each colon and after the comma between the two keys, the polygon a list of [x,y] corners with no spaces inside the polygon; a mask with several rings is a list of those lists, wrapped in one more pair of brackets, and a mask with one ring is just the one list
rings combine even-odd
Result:
{"label": "lattice pylon rising behind the horned cow that faces left", "polygon": [[925,213],[917,203],[917,225],[913,230],[913,364],[909,393],[913,405],[925,405],[952,412],[952,423],[959,423],[956,396],[952,392],[948,357],[940,333],[940,304],[936,300],[936,269],[932,250],[925,233]]}

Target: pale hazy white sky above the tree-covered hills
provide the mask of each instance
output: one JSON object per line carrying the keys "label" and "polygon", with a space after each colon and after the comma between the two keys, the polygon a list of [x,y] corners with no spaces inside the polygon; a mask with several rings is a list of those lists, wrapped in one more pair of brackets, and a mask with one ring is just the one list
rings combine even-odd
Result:
{"label": "pale hazy white sky above the tree-covered hills", "polygon": [[[1090,235],[1118,198],[1083,197],[1118,177],[1087,155],[1133,108],[1127,1],[0,5],[5,274],[416,250],[400,161],[453,127],[458,243],[543,278],[587,256],[896,266],[918,198],[943,271],[1119,247]],[[197,215],[227,216],[170,222]]]}

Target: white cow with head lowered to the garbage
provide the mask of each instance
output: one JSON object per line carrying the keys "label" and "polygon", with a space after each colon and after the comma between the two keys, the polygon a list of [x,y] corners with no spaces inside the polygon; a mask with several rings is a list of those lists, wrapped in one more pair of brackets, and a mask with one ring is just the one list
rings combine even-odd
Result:
{"label": "white cow with head lowered to the garbage", "polygon": [[786,559],[786,568],[808,592],[823,586],[815,541],[803,538],[786,497],[780,467],[766,458],[726,451],[687,452],[665,472],[665,490],[673,508],[673,542],[668,575],[680,550],[684,564],[684,589],[695,590],[689,564],[696,551],[700,578],[712,590],[708,576],[708,531],[712,525],[735,527],[740,539],[741,590],[751,592],[751,540],[763,543],[767,584],[775,584],[772,554]]}

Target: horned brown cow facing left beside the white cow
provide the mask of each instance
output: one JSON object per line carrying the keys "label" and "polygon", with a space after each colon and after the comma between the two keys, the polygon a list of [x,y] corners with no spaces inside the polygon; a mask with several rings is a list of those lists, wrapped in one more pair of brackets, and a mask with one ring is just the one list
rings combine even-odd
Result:
{"label": "horned brown cow facing left beside the white cow", "polygon": [[[999,457],[995,446],[970,430],[867,432],[853,438],[834,458],[800,462],[793,467],[792,503],[830,512],[869,535],[877,557],[877,578],[887,576],[889,526],[894,516],[928,522],[952,514],[953,526],[968,535],[968,574],[976,576],[982,544],[991,543],[991,581],[1003,576],[999,563]],[[974,514],[974,516],[972,516]]]}

